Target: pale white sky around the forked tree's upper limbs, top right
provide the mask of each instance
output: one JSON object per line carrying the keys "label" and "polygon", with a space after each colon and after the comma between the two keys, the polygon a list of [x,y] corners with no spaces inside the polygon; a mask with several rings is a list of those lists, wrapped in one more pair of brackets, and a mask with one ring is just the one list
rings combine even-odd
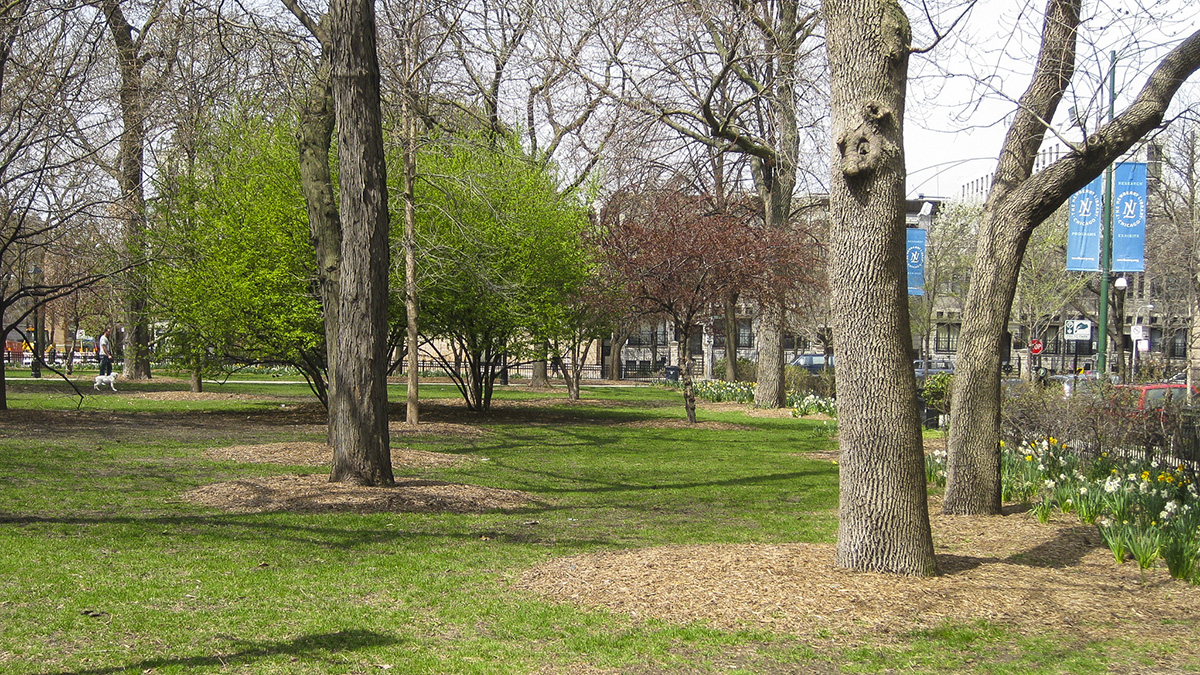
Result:
{"label": "pale white sky around the forked tree's upper limbs, top right", "polygon": [[[928,46],[929,22],[914,4],[920,0],[906,7],[913,44]],[[1102,80],[1111,52],[1117,52],[1121,114],[1163,54],[1200,29],[1200,11],[1189,0],[1085,0],[1084,6],[1076,76],[1054,120],[1061,137],[1048,137],[1048,151],[1061,153],[1066,142],[1081,138],[1067,121],[1070,108],[1087,118],[1087,129],[1106,112]],[[1044,7],[1045,0],[979,0],[931,52],[913,56],[905,120],[910,198],[960,198],[964,185],[990,175],[1033,70]],[[952,0],[934,23],[944,29],[961,13],[962,2]],[[1200,102],[1200,74],[1176,100]]]}

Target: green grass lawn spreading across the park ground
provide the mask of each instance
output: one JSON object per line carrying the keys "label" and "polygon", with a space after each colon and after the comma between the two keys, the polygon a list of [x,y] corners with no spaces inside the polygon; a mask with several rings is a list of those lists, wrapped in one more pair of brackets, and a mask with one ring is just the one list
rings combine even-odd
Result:
{"label": "green grass lawn spreading across the park ground", "polygon": [[[118,393],[10,382],[0,412],[0,673],[1105,673],[1156,669],[1169,645],[1037,638],[948,623],[820,644],[558,604],[516,586],[577,554],[714,543],[833,542],[830,426],[678,394],[504,389],[522,402],[455,422],[480,435],[394,446],[464,455],[419,477],[523,490],[518,512],[228,513],[184,501],[200,485],[314,467],[205,459],[208,448],[323,441],[298,423],[304,384],[119,382]],[[402,406],[403,388],[392,396]],[[422,398],[452,398],[422,387]],[[539,401],[559,398],[563,401]],[[528,404],[528,405],[524,405]],[[443,406],[449,410],[449,406]],[[400,408],[397,408],[400,410]],[[446,413],[443,413],[446,414]],[[311,416],[310,416],[311,417]]]}

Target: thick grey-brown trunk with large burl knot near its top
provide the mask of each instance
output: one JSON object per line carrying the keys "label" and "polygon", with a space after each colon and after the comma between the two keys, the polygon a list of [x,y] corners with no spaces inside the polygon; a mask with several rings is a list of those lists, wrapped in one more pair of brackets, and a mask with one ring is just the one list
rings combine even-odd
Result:
{"label": "thick grey-brown trunk with large burl knot near its top", "polygon": [[936,573],[905,281],[908,19],[895,0],[827,0],[841,508],[838,565]]}

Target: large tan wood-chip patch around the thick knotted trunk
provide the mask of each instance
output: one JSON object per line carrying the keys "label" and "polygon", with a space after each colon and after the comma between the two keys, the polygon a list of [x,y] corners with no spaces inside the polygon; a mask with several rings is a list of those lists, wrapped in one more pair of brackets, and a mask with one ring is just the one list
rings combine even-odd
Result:
{"label": "large tan wood-chip patch around the thick knotted trunk", "polygon": [[1195,640],[1178,639],[1181,625],[1200,620],[1200,587],[1164,568],[1142,581],[1135,563],[1116,563],[1094,526],[1039,525],[1021,513],[932,520],[936,578],[847,572],[834,567],[833,544],[738,544],[560,558],[518,585],[643,619],[767,627],[833,644],[984,619],[1027,634],[1049,627],[1170,640],[1174,657],[1200,657]]}

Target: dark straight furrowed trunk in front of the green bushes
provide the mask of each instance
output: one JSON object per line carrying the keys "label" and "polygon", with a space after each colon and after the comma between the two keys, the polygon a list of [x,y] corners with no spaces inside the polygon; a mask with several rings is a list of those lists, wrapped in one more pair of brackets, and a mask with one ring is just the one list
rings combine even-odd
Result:
{"label": "dark straight furrowed trunk in front of the green bushes", "polygon": [[388,441],[388,180],[379,109],[374,6],[329,8],[341,180],[342,265],[330,480],[391,485]]}

